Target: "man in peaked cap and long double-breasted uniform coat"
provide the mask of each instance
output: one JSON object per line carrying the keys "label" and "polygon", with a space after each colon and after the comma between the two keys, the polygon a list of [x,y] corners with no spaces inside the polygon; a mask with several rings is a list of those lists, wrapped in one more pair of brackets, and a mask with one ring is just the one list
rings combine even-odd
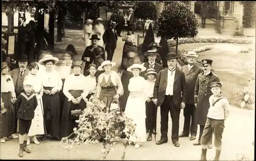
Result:
{"label": "man in peaked cap and long double-breasted uniform coat", "polygon": [[[203,59],[203,73],[200,73],[197,77],[197,83],[195,86],[195,99],[194,103],[196,110],[196,123],[200,125],[198,142],[193,145],[201,145],[201,137],[203,135],[204,126],[207,119],[208,110],[210,108],[209,98],[212,95],[210,90],[210,84],[212,82],[220,82],[217,75],[211,72],[212,60]],[[208,148],[212,147],[212,136],[208,143]]]}

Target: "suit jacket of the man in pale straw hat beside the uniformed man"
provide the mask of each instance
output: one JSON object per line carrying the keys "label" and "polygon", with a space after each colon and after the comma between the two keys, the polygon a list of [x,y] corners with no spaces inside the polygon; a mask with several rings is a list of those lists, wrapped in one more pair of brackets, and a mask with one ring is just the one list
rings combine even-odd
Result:
{"label": "suit jacket of the man in pale straw hat beside the uniformed man", "polygon": [[187,99],[186,103],[194,104],[194,95],[195,95],[195,86],[197,82],[198,74],[203,72],[196,64],[188,71],[188,65],[182,66],[181,70],[185,74],[186,78],[186,87],[187,87]]}

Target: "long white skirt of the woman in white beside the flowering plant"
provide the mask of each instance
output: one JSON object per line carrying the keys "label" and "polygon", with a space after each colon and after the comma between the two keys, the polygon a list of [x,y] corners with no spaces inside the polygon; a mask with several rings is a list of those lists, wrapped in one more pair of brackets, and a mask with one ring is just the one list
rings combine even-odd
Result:
{"label": "long white skirt of the woman in white beside the flowering plant", "polygon": [[125,116],[131,118],[136,124],[135,136],[130,137],[131,142],[145,142],[146,141],[146,106],[142,96],[133,96],[130,94],[128,97]]}

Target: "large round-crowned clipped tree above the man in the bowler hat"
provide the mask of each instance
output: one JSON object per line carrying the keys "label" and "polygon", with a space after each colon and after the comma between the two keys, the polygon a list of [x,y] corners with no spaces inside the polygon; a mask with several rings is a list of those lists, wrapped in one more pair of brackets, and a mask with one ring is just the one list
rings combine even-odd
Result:
{"label": "large round-crowned clipped tree above the man in the bowler hat", "polygon": [[198,21],[190,6],[180,2],[168,2],[157,21],[157,37],[176,40],[176,55],[179,38],[193,38],[198,34]]}

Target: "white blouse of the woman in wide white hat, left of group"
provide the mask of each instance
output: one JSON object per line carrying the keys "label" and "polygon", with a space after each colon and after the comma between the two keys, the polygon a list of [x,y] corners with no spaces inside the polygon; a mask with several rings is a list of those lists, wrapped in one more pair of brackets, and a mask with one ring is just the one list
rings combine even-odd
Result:
{"label": "white blouse of the woman in wide white hat, left of group", "polygon": [[60,74],[56,70],[52,70],[51,72],[42,73],[42,85],[44,87],[53,87],[57,90],[61,90],[62,81]]}

